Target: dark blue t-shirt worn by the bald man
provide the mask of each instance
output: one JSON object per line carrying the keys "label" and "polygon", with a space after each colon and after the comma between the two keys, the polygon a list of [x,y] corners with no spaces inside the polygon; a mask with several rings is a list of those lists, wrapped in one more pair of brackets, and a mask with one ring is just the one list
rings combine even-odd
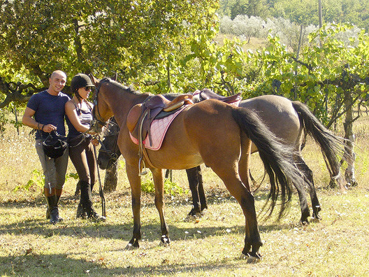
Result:
{"label": "dark blue t-shirt worn by the bald man", "polygon": [[[63,92],[59,92],[57,96],[49,94],[46,90],[34,94],[29,99],[27,107],[34,110],[34,119],[40,124],[52,124],[57,127],[57,132],[61,136],[65,136],[64,116],[65,116],[65,104],[69,101],[68,95]],[[36,132],[36,139],[45,139],[48,133],[41,130]]]}

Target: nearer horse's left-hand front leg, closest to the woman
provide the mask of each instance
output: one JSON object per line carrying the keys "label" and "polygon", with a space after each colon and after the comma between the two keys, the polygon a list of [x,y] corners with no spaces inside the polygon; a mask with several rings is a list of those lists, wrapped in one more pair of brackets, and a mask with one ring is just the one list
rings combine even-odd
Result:
{"label": "nearer horse's left-hand front leg, closest to the woman", "polygon": [[141,178],[138,176],[138,166],[136,164],[126,164],[126,173],[131,185],[132,196],[132,212],[133,212],[133,236],[131,241],[126,246],[126,249],[139,248],[138,241],[141,239],[141,222],[140,222],[140,208],[141,208]]}

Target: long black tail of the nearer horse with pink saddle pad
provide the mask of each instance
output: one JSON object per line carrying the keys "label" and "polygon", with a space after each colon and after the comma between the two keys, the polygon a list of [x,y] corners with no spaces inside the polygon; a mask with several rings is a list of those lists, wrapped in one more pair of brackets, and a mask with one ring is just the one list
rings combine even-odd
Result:
{"label": "long black tail of the nearer horse with pink saddle pad", "polygon": [[280,195],[282,203],[279,218],[281,218],[291,199],[292,185],[303,186],[301,173],[294,164],[293,150],[280,143],[268,127],[262,123],[258,115],[249,108],[234,107],[232,116],[241,130],[258,148],[266,173],[268,173],[270,180],[268,201],[270,201],[270,205],[267,217],[273,212]]}

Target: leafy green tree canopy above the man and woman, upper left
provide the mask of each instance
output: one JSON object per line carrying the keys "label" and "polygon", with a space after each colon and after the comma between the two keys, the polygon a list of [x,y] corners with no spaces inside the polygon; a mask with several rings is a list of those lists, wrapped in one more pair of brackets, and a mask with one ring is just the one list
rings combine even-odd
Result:
{"label": "leafy green tree canopy above the man and woman, upper left", "polygon": [[68,76],[117,72],[123,83],[140,87],[167,78],[158,68],[217,24],[217,8],[217,1],[197,0],[6,1],[0,61],[8,62],[0,73],[7,81],[22,73],[47,86],[55,69]]}

